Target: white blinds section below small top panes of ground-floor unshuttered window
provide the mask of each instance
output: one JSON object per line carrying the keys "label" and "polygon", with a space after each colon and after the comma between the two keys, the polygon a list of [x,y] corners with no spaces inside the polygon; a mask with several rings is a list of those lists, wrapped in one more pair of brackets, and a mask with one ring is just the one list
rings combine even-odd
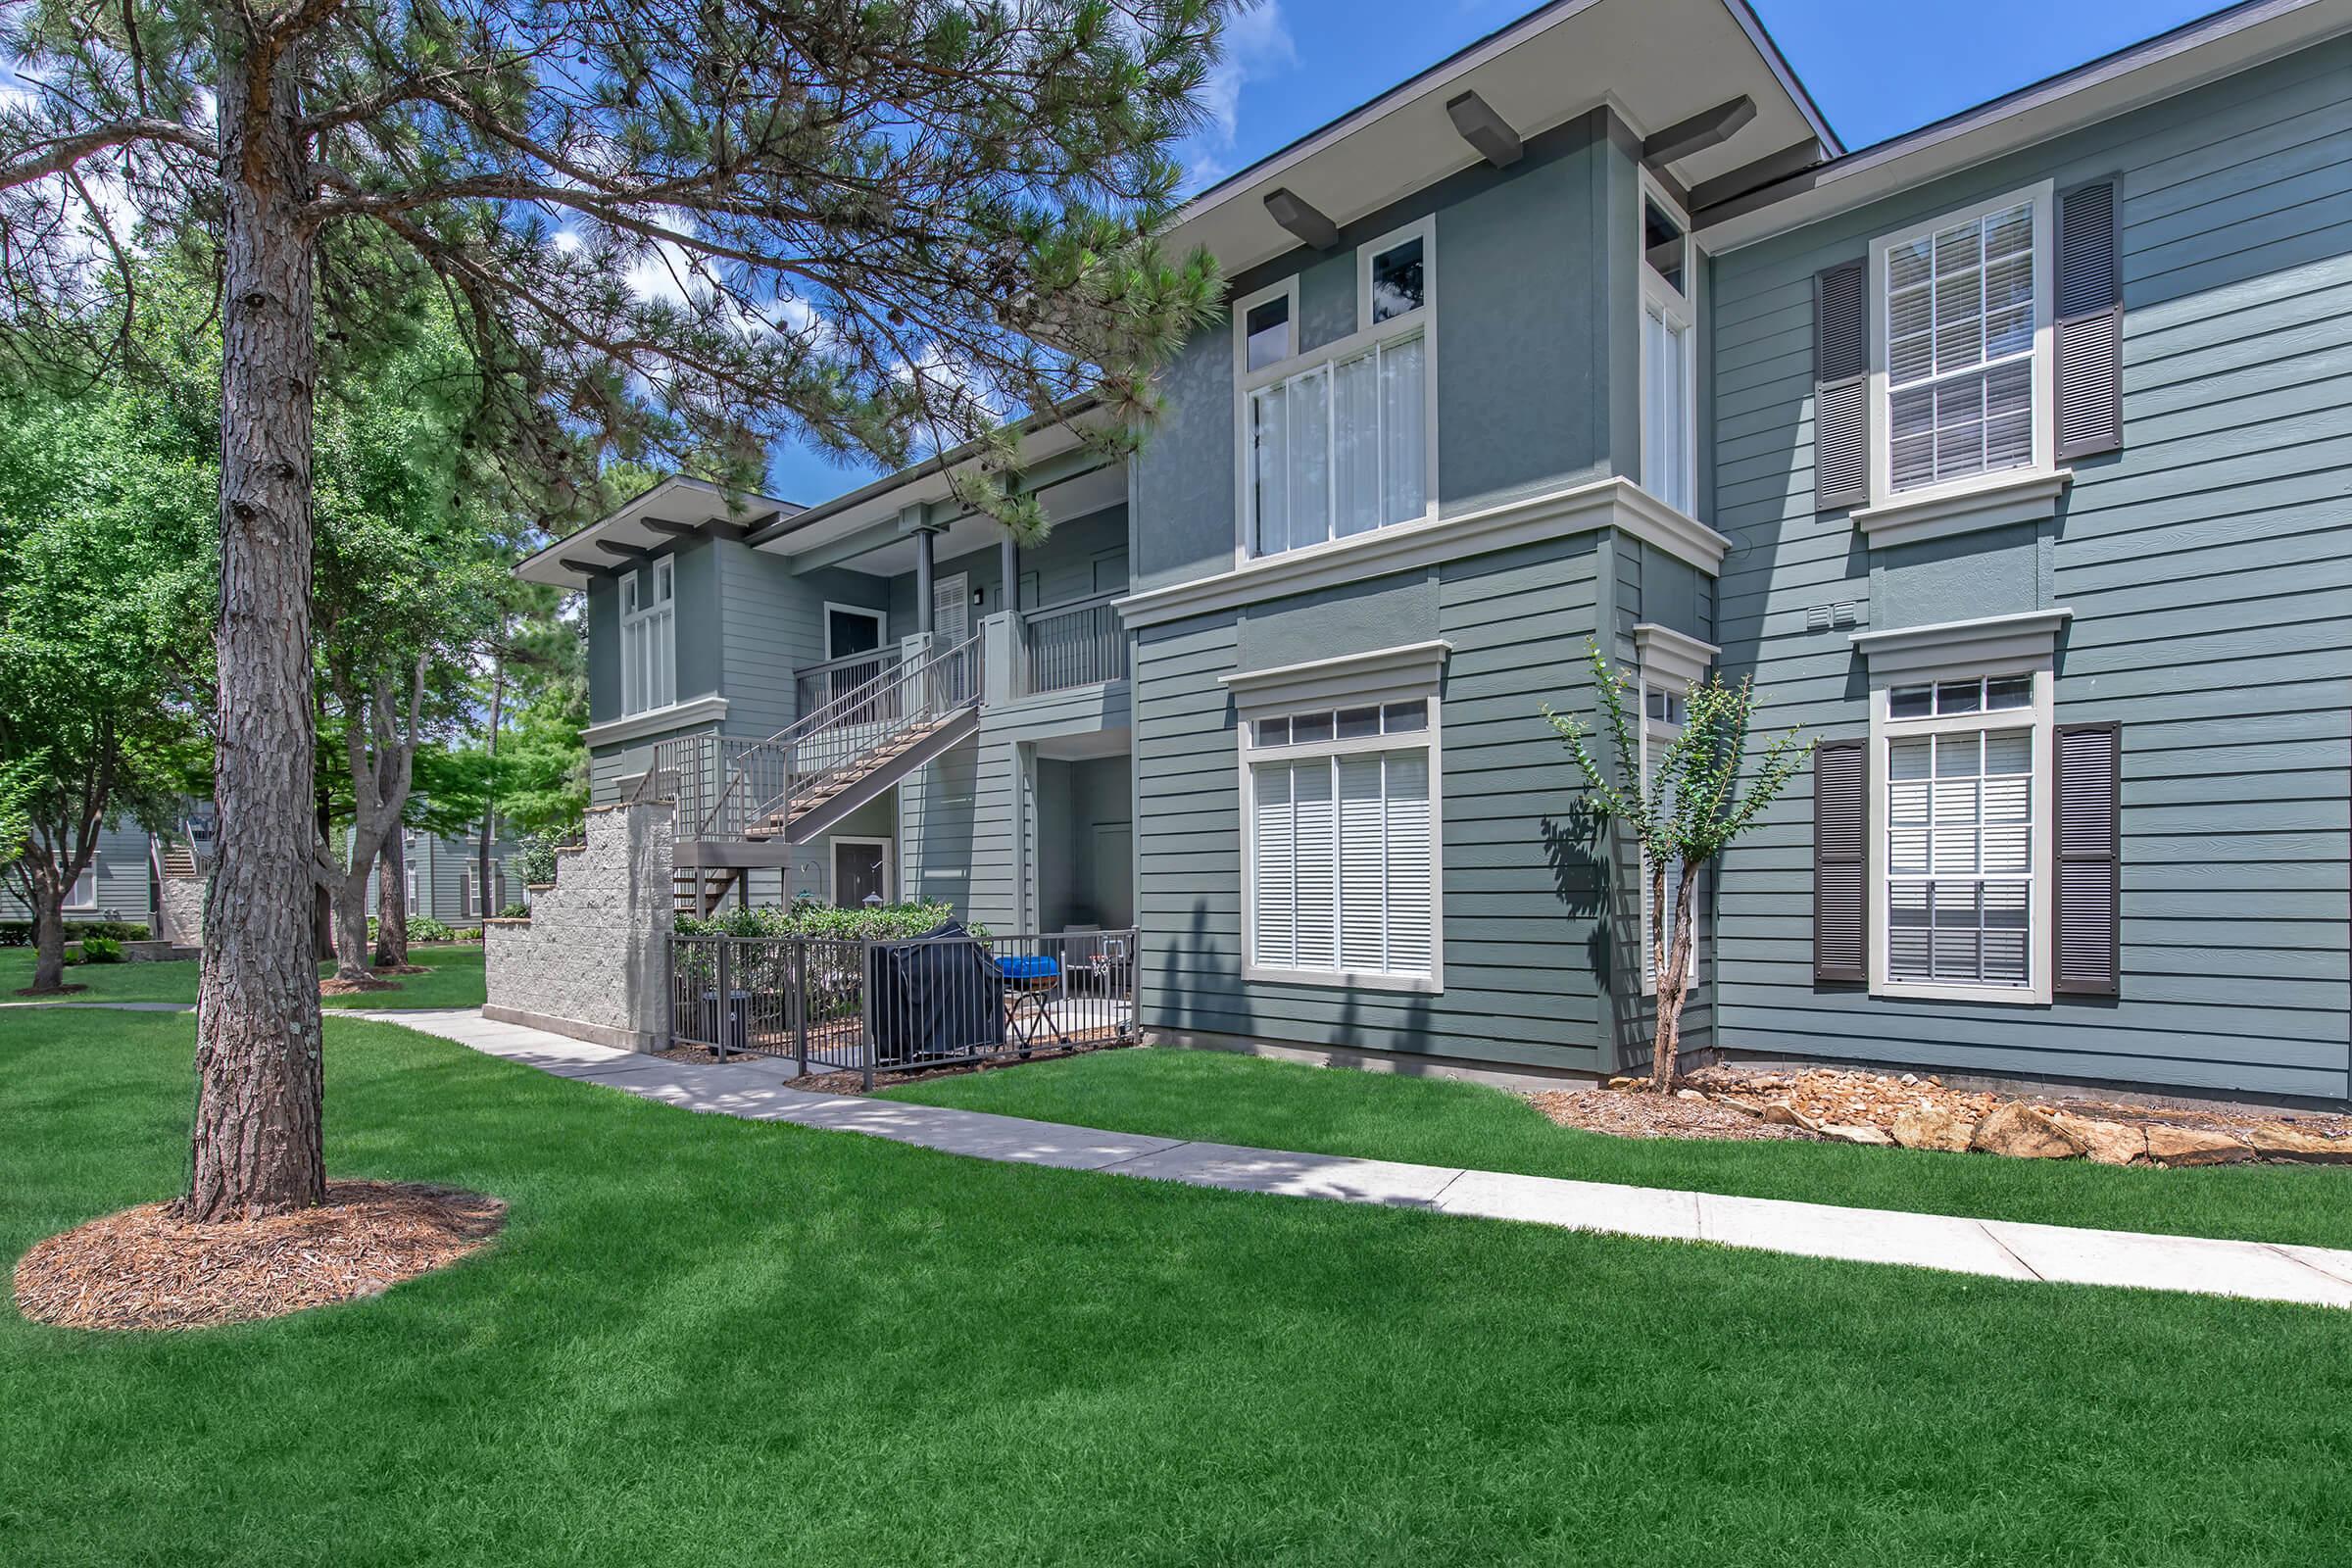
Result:
{"label": "white blinds section below small top panes of ground-floor unshuttered window", "polygon": [[1437,860],[1430,752],[1348,752],[1251,766],[1251,961],[1425,978]]}

